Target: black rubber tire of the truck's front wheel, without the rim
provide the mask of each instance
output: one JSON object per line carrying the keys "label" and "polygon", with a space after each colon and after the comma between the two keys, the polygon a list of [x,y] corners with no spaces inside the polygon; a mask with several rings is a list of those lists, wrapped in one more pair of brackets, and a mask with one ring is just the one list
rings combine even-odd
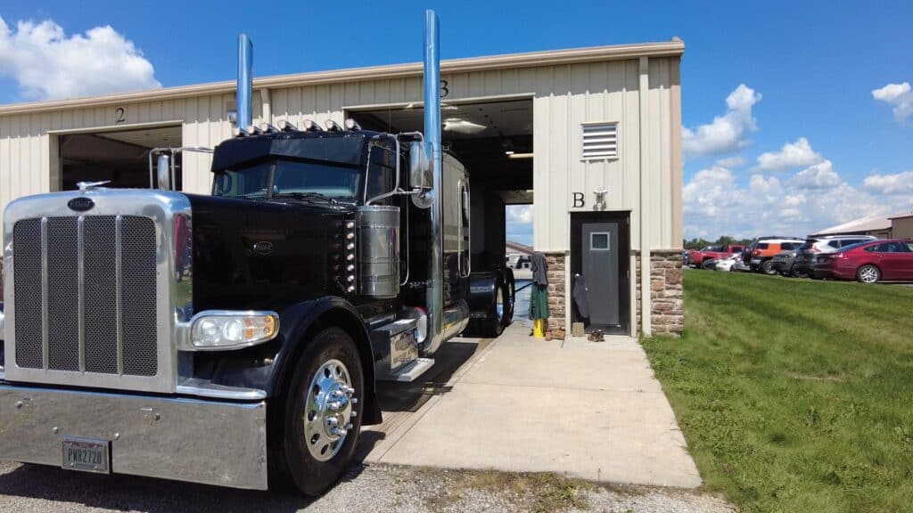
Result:
{"label": "black rubber tire of the truck's front wheel, without the rim", "polygon": [[[321,462],[311,454],[308,441],[305,439],[304,423],[302,419],[308,414],[306,394],[310,393],[310,385],[316,372],[324,362],[341,361],[349,373],[352,388],[355,392],[352,397],[361,401],[352,404],[355,416],[349,422],[352,428],[342,440],[342,445],[336,455],[328,461]],[[358,348],[352,337],[340,328],[328,328],[320,331],[308,347],[301,353],[292,374],[289,393],[285,401],[285,410],[282,416],[282,448],[284,467],[278,468],[280,474],[278,484],[281,486],[290,483],[297,487],[301,493],[316,497],[322,494],[339,480],[346,470],[352,465],[355,445],[362,427],[362,410],[364,406],[364,374],[362,360]]]}

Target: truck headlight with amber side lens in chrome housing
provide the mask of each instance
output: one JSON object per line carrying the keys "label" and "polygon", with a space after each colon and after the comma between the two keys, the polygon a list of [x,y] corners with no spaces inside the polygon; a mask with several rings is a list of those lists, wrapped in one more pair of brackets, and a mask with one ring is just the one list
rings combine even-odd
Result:
{"label": "truck headlight with amber side lens in chrome housing", "polygon": [[266,311],[203,311],[191,321],[196,350],[240,349],[276,338],[279,317]]}

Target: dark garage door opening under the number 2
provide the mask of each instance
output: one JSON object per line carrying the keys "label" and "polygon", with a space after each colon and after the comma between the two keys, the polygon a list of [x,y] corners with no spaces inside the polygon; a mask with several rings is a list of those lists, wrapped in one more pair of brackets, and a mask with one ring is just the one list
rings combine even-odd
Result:
{"label": "dark garage door opening under the number 2", "polygon": [[[149,151],[181,146],[181,126],[129,131],[97,131],[59,136],[60,190],[78,189],[79,182],[105,182],[106,187],[148,188]],[[181,190],[181,156],[175,162]]]}

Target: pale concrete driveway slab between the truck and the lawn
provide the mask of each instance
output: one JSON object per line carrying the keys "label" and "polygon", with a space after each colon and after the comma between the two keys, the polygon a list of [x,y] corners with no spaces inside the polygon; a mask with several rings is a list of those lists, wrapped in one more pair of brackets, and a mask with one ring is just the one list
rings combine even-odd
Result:
{"label": "pale concrete driveway slab between the truck and the lawn", "polygon": [[[636,340],[457,339],[424,383],[388,383],[369,463],[556,472],[698,487],[698,469]],[[428,379],[430,378],[430,379]]]}

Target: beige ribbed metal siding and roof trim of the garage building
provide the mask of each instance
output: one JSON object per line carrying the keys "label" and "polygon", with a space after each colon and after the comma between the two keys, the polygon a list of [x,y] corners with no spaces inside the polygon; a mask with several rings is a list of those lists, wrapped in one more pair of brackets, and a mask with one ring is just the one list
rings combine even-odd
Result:
{"label": "beige ribbed metal siding and roof trim of the garage building", "polygon": [[[447,101],[515,96],[533,99],[535,228],[540,251],[570,249],[569,218],[590,211],[594,190],[607,190],[605,210],[631,211],[632,249],[640,247],[640,176],[653,186],[646,205],[649,244],[681,245],[681,157],[679,58],[650,58],[646,110],[640,111],[638,62],[634,59],[530,68],[485,69],[445,73]],[[259,89],[257,89],[259,90]],[[379,105],[404,106],[422,101],[418,76],[370,79],[270,89],[271,119],[342,122],[345,112]],[[261,121],[255,95],[253,115]],[[182,123],[183,144],[215,146],[231,135],[226,118],[234,95],[217,94],[154,101],[132,101],[90,108],[0,114],[0,209],[16,197],[58,188],[57,139],[62,131],[128,130],[147,123]],[[114,110],[126,110],[115,123]],[[646,155],[641,162],[641,116]],[[581,125],[618,122],[618,158],[581,160]],[[184,157],[184,190],[210,190],[210,157]],[[471,172],[471,170],[470,170]],[[572,193],[586,204],[573,208]],[[2,221],[2,219],[0,219]]]}

